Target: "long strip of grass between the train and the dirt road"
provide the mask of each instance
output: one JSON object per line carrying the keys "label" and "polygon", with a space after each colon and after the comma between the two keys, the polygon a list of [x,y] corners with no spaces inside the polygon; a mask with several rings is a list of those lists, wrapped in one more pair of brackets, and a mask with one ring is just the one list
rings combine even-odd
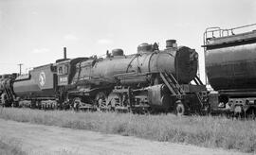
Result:
{"label": "long strip of grass between the train and the dirt road", "polygon": [[44,112],[27,109],[2,109],[0,118],[163,142],[256,152],[256,122],[253,120],[240,121],[212,116],[177,117],[173,114]]}

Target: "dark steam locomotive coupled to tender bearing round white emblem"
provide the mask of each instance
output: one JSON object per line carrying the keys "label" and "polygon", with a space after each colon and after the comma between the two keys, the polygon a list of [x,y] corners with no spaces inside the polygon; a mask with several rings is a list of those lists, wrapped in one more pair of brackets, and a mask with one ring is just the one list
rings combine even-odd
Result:
{"label": "dark steam locomotive coupled to tender bearing round white emblem", "polygon": [[[66,58],[35,67],[27,75],[0,79],[1,104],[38,109],[201,113],[206,87],[197,74],[198,54],[166,41],[141,43],[137,53],[107,51],[105,58]],[[193,84],[192,84],[193,83]]]}

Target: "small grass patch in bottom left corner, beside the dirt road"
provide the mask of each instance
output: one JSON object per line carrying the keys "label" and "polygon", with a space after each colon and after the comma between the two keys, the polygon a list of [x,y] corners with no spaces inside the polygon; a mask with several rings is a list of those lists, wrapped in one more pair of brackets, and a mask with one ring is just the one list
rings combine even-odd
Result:
{"label": "small grass patch in bottom left corner, beside the dirt road", "polygon": [[3,155],[27,155],[23,151],[18,141],[14,139],[0,138],[0,154]]}

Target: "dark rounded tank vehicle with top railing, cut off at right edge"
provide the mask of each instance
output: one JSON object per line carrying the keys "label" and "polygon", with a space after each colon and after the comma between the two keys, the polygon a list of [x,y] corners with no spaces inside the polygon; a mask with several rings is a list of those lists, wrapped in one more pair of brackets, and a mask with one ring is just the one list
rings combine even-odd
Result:
{"label": "dark rounded tank vehicle with top railing, cut off at right edge", "polygon": [[256,31],[234,34],[230,29],[211,27],[204,33],[206,73],[217,92],[209,96],[211,112],[252,116],[256,113]]}

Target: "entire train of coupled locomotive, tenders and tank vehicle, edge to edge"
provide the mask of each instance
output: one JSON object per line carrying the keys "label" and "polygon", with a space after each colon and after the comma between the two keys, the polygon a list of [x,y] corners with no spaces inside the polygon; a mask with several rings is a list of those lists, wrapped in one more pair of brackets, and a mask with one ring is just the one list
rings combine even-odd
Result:
{"label": "entire train of coupled locomotive, tenders and tank vehicle, edge to edge", "polygon": [[[250,25],[256,26],[256,25]],[[256,113],[256,31],[207,28],[206,75],[213,90],[197,77],[198,55],[166,41],[141,43],[137,53],[107,51],[105,58],[75,58],[35,67],[27,75],[0,76],[3,106],[121,112]]]}

